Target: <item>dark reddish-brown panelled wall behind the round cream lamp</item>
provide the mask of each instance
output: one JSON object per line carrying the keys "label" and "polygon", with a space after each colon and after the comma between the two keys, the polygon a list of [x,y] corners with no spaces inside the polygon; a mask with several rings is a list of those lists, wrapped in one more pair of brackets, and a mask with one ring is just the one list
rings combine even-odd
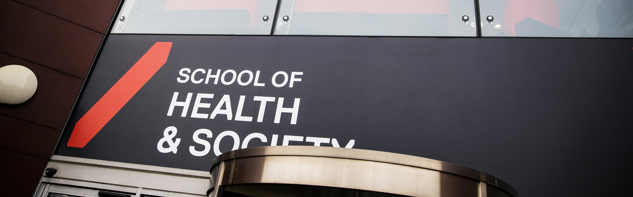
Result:
{"label": "dark reddish-brown panelled wall behind the round cream lamp", "polygon": [[31,69],[37,91],[0,104],[0,196],[30,197],[65,124],[118,0],[0,0],[0,67]]}

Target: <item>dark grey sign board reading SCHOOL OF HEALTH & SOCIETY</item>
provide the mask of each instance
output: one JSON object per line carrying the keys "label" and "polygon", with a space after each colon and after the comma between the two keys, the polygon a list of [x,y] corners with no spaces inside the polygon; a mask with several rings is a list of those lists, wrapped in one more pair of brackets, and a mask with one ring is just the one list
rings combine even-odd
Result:
{"label": "dark grey sign board reading SCHOOL OF HEALTH & SOCIETY", "polygon": [[[85,146],[69,146],[72,133],[89,133],[75,129],[82,117],[103,121],[125,100],[108,102],[108,91],[142,82],[135,77],[149,69],[130,68],[157,42],[171,42],[166,62],[103,128],[84,124],[98,131]],[[57,154],[208,170],[216,153],[242,146],[340,146],[463,165],[520,194],[575,194],[574,185],[618,179],[631,161],[632,47],[630,39],[110,35]]]}

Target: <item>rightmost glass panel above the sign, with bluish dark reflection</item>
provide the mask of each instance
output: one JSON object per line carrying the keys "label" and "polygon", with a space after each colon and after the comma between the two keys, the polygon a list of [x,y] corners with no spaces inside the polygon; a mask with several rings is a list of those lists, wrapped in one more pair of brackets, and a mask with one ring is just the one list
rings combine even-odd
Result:
{"label": "rightmost glass panel above the sign, with bluish dark reflection", "polygon": [[480,0],[479,8],[482,36],[633,37],[631,0]]}

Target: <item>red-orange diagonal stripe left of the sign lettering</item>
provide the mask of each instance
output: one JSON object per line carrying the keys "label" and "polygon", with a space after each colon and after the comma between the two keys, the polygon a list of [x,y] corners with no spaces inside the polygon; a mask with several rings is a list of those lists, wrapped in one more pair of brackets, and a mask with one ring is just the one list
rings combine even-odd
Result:
{"label": "red-orange diagonal stripe left of the sign lettering", "polygon": [[84,114],[70,134],[68,146],[84,148],[116,112],[147,83],[167,61],[172,42],[156,42],[103,97]]}

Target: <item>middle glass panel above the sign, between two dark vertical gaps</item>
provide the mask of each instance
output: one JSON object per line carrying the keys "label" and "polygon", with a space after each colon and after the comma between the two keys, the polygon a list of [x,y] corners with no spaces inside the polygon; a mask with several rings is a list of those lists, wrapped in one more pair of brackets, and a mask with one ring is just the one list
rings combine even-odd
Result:
{"label": "middle glass panel above the sign, between two dark vertical gaps", "polygon": [[473,0],[282,1],[275,34],[473,37],[474,16]]}

